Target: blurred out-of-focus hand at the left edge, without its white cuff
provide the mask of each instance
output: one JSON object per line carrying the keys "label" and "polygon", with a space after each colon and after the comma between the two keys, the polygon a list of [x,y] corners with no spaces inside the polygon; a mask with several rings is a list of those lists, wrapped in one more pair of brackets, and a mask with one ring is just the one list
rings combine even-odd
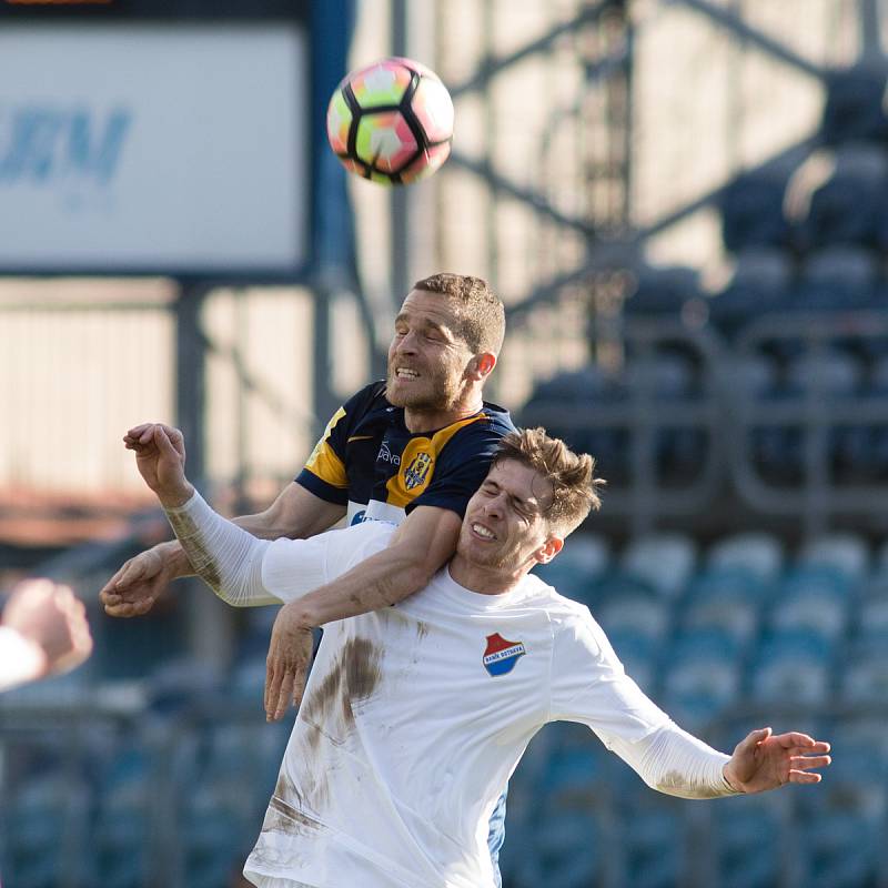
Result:
{"label": "blurred out-of-focus hand at the left edge, without its white cuff", "polygon": [[73,669],[92,653],[83,603],[69,586],[51,579],[19,583],[3,608],[2,623],[42,652],[44,666],[38,677]]}

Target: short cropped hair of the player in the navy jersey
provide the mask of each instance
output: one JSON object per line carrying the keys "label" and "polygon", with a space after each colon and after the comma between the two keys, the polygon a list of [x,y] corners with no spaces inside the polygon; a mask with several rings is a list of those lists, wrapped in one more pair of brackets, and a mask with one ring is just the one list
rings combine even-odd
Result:
{"label": "short cropped hair of the player in the navy jersey", "polygon": [[483,278],[471,274],[433,274],[413,284],[414,290],[438,293],[455,306],[460,320],[457,333],[472,354],[500,355],[506,335],[506,310],[502,300]]}

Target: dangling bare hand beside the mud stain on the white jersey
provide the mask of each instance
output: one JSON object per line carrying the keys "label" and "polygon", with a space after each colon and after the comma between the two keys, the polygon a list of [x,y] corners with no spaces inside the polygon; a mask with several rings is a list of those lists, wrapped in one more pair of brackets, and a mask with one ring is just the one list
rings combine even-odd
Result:
{"label": "dangling bare hand beside the mud stain on the white jersey", "polygon": [[285,604],[271,630],[265,660],[265,718],[283,718],[290,702],[299,706],[312,658],[312,629],[299,615],[296,602]]}

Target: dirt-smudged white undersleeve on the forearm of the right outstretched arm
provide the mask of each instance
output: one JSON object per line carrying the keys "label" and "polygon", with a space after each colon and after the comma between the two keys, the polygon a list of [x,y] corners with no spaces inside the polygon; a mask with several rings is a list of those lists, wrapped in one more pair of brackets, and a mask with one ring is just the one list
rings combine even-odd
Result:
{"label": "dirt-smudged white undersleeve on the forearm of the right outstretched arm", "polygon": [[724,775],[729,756],[672,722],[638,743],[617,741],[614,751],[660,793],[682,798],[718,798],[737,793]]}

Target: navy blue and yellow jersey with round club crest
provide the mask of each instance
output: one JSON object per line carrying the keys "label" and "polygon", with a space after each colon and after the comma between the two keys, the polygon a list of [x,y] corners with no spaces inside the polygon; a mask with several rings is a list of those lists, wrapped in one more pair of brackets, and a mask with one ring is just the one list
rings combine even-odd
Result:
{"label": "navy blue and yellow jersey with round club crest", "polygon": [[514,427],[508,411],[485,402],[474,416],[412,433],[403,408],[392,406],[385,383],[376,382],[336,411],[296,482],[322,500],[347,505],[352,524],[400,523],[422,505],[462,517],[497,443]]}

